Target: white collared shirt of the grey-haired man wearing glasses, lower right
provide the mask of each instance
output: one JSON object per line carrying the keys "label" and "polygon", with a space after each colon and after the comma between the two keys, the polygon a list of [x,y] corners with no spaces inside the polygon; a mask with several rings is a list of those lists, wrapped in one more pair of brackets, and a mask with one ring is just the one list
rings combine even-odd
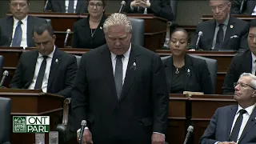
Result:
{"label": "white collared shirt of the grey-haired man wearing glasses, lower right", "polygon": [[[241,137],[241,134],[242,134],[242,131],[244,130],[244,128],[246,127],[246,123],[247,121],[249,120],[250,118],[250,114],[253,113],[254,111],[254,108],[256,106],[256,103],[253,105],[253,106],[249,106],[247,107],[245,110],[246,110],[246,113],[245,114],[242,114],[242,125],[240,127],[240,130],[239,130],[239,134],[238,134],[238,140],[237,142],[239,142],[239,138]],[[238,105],[238,110],[237,110],[237,113],[235,114],[234,116],[234,121],[233,121],[233,124],[232,124],[232,127],[231,127],[231,130],[230,130],[230,134],[232,133],[232,130],[234,128],[234,124],[236,122],[236,120],[238,119],[238,116],[239,116],[239,110],[242,110],[242,106]]]}

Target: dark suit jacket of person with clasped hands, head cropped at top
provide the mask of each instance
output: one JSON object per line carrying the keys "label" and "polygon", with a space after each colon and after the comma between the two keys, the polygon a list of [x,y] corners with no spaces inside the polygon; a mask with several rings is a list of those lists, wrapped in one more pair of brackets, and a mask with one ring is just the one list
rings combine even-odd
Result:
{"label": "dark suit jacket of person with clasped hands, head cropped at top", "polygon": [[[134,10],[130,10],[130,2],[133,0],[126,0],[126,6],[124,8],[124,12],[127,14],[143,14],[144,8],[138,7],[134,8]],[[150,0],[151,6],[147,8],[147,14],[154,14],[157,17],[166,18],[168,21],[174,19],[174,14],[172,12],[170,6],[170,0]]]}

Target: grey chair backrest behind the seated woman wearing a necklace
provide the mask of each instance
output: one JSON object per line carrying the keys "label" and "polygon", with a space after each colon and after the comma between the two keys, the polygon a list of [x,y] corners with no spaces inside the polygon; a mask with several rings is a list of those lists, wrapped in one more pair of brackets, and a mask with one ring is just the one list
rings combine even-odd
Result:
{"label": "grey chair backrest behind the seated woman wearing a necklace", "polygon": [[[208,70],[210,71],[210,78],[211,78],[211,82],[213,85],[213,91],[215,94],[215,90],[216,90],[216,82],[217,82],[217,70],[218,70],[218,62],[216,59],[212,59],[212,58],[205,58],[205,57],[201,57],[198,55],[193,55],[190,54],[191,57],[194,58],[200,58],[206,61],[207,66],[208,66]],[[161,57],[162,61],[165,61],[166,58],[170,58],[170,56],[165,56],[165,57]]]}

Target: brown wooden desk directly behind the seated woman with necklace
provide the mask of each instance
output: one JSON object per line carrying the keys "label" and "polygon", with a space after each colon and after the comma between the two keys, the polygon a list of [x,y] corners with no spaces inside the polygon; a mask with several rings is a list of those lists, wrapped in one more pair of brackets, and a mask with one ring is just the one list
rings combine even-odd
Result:
{"label": "brown wooden desk directly behind the seated woman with necklace", "polygon": [[[170,50],[156,50],[156,53],[161,56],[171,55]],[[218,62],[216,94],[222,94],[222,85],[230,62],[234,57],[235,52],[218,52],[218,51],[187,51],[187,54],[195,54],[206,58],[216,59]]]}

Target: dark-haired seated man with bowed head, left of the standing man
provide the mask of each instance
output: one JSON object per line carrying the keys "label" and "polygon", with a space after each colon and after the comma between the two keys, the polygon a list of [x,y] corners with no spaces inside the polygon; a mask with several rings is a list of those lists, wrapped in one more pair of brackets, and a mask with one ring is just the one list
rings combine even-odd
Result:
{"label": "dark-haired seated man with bowed head, left of the standing man", "polygon": [[70,97],[77,61],[74,55],[54,46],[55,39],[54,30],[48,23],[34,27],[37,50],[21,55],[10,88],[42,89],[45,93]]}

